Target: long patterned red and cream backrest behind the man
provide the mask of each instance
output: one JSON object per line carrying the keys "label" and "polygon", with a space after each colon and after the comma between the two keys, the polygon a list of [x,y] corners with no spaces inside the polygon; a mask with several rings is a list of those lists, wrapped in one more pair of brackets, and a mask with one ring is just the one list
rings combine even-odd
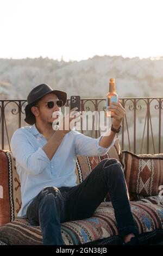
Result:
{"label": "long patterned red and cream backrest behind the man", "polygon": [[[115,157],[119,160],[119,153],[120,144],[116,139],[109,153],[102,157],[78,156],[76,162],[77,183],[82,182],[99,161],[108,157]],[[0,227],[14,221],[20,208],[21,190],[15,158],[12,152],[0,150]]]}

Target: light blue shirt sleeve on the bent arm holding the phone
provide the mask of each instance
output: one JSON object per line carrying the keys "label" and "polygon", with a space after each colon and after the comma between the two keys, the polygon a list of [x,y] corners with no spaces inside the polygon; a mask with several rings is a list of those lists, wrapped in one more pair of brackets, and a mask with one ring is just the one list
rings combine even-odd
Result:
{"label": "light blue shirt sleeve on the bent arm holding the phone", "polygon": [[42,148],[40,147],[35,150],[33,145],[28,141],[27,136],[21,131],[17,130],[12,135],[11,150],[16,162],[32,175],[41,173],[50,163]]}

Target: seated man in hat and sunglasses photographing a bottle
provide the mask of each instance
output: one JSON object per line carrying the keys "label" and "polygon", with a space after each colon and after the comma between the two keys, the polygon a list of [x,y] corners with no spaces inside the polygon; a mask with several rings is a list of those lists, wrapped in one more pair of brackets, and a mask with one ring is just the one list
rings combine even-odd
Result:
{"label": "seated man in hat and sunglasses photographing a bottle", "polygon": [[[21,127],[11,139],[21,182],[22,207],[18,217],[28,217],[30,224],[40,225],[43,245],[63,245],[60,223],[91,217],[109,192],[120,236],[125,243],[137,243],[121,164],[105,159],[79,185],[75,174],[77,155],[102,156],[109,150],[120,130],[124,108],[120,101],[112,103],[111,132],[94,139],[65,130],[64,125],[61,129],[60,124],[58,130],[53,130],[53,113],[61,111],[66,99],[65,92],[47,84],[35,87],[27,97],[24,120],[32,126]],[[62,124],[66,118],[74,119],[68,114]]]}

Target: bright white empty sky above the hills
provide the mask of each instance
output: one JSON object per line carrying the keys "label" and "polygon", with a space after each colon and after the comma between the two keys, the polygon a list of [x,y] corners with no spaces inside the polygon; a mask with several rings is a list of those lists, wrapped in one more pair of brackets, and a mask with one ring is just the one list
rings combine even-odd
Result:
{"label": "bright white empty sky above the hills", "polygon": [[162,0],[0,0],[0,58],[163,56]]}

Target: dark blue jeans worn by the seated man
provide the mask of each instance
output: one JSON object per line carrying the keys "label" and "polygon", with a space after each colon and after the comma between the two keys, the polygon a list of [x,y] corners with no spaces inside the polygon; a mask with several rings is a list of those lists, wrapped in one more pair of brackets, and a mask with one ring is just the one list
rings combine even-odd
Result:
{"label": "dark blue jeans worn by the seated man", "polygon": [[137,233],[121,164],[102,160],[79,185],[45,187],[28,206],[31,225],[40,225],[43,245],[63,245],[60,223],[93,215],[109,192],[120,236]]}

